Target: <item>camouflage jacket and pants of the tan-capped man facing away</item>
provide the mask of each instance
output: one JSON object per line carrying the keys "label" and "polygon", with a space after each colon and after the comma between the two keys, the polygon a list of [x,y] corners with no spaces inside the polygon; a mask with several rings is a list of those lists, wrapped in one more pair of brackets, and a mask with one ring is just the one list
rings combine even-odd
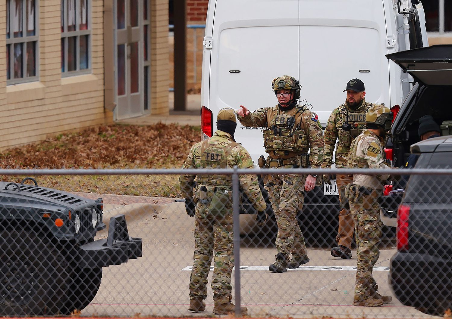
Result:
{"label": "camouflage jacket and pants of the tan-capped man facing away", "polygon": [[[227,158],[225,161],[224,158]],[[212,138],[196,143],[188,153],[183,168],[253,168],[250,154],[240,144],[235,143],[230,134],[217,130]],[[184,198],[193,196],[192,182],[196,175],[183,175],[179,178]],[[259,210],[265,210],[266,203],[255,176],[239,176],[240,185],[251,203]],[[207,298],[207,275],[213,256],[213,299],[219,304],[230,301],[231,273],[234,264],[232,232],[232,200],[227,200],[221,214],[214,216],[209,212],[210,200],[215,188],[227,190],[232,195],[231,176],[198,175],[194,193],[195,250],[193,269],[190,277],[190,299]],[[207,194],[201,188],[206,186]],[[231,197],[232,198],[232,197]]]}

